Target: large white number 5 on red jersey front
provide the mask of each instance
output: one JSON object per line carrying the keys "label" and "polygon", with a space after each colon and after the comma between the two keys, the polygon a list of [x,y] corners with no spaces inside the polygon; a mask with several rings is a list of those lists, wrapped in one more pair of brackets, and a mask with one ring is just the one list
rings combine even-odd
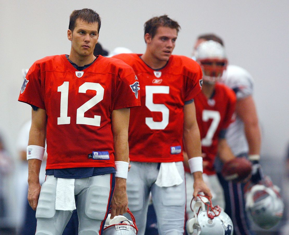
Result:
{"label": "large white number 5 on red jersey front", "polygon": [[145,86],[145,106],[152,112],[161,112],[162,121],[155,122],[152,117],[145,118],[145,124],[152,130],[163,130],[168,125],[169,109],[164,104],[154,104],[153,94],[168,94],[168,86]]}

